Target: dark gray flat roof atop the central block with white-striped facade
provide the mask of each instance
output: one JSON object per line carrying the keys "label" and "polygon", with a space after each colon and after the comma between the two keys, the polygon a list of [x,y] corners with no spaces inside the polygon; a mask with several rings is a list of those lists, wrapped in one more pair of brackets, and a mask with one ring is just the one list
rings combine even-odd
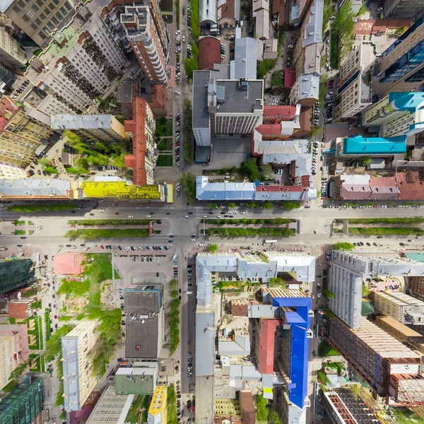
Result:
{"label": "dark gray flat roof atop the central block with white-striped facade", "polygon": [[[212,74],[213,75],[213,74]],[[249,80],[248,90],[241,90],[238,81],[218,80],[217,86],[225,88],[225,100],[220,103],[217,113],[252,113],[254,109],[261,109],[257,100],[262,100],[264,87],[263,80]]]}

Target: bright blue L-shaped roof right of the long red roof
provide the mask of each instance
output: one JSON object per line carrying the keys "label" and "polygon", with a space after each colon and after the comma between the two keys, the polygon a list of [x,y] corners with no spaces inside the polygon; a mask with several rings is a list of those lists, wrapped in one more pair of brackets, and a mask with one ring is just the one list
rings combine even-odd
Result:
{"label": "bright blue L-shaped roof right of the long red roof", "polygon": [[307,367],[309,338],[306,332],[310,329],[311,298],[273,298],[273,306],[295,308],[295,312],[285,312],[290,331],[290,380],[288,385],[290,399],[293,404],[303,408],[307,398]]}

